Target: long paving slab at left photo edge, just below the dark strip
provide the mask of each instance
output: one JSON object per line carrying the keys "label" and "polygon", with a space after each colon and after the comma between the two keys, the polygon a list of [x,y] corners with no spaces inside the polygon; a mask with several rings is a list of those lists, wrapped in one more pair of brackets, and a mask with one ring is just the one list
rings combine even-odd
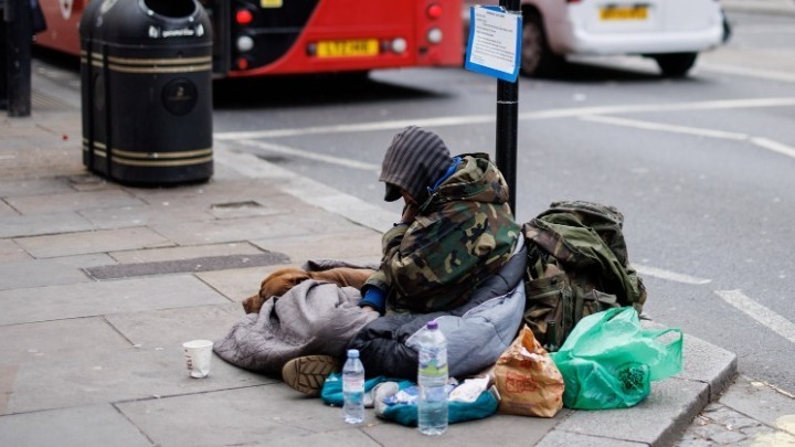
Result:
{"label": "long paving slab at left photo edge, just below the dark strip", "polygon": [[191,275],[0,291],[0,326],[229,301]]}

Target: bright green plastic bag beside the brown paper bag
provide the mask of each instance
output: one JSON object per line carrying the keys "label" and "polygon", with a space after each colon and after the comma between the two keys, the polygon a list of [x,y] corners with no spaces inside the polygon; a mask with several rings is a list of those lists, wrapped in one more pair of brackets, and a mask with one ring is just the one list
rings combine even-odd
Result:
{"label": "bright green plastic bag beside the brown paper bag", "polygon": [[[676,334],[674,341],[660,341]],[[628,408],[651,392],[651,381],[681,372],[680,329],[644,329],[632,307],[608,309],[580,320],[552,360],[568,408]]]}

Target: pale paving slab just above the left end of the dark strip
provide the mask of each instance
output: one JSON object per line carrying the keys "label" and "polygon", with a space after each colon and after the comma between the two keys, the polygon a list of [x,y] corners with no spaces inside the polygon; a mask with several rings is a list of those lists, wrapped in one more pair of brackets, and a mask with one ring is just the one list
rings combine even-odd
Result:
{"label": "pale paving slab just above the left end of the dark strip", "polygon": [[167,237],[145,226],[20,237],[14,242],[38,258],[174,245]]}

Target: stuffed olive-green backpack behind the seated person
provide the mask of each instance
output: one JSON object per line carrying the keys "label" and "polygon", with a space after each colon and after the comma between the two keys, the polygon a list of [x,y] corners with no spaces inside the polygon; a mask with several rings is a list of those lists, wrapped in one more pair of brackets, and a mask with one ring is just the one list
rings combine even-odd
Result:
{"label": "stuffed olive-green backpack behind the seated person", "polygon": [[623,224],[613,206],[561,201],[522,225],[523,320],[548,351],[556,351],[585,316],[625,306],[643,310],[646,288],[629,266]]}

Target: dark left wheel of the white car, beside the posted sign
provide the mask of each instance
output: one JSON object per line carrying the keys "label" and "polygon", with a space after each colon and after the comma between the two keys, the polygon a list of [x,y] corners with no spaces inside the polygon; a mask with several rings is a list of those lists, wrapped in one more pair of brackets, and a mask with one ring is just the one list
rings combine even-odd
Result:
{"label": "dark left wheel of the white car, beside the posted sign", "polygon": [[529,77],[552,76],[560,71],[563,58],[547,43],[543,21],[537,13],[526,14],[522,26],[521,73]]}

